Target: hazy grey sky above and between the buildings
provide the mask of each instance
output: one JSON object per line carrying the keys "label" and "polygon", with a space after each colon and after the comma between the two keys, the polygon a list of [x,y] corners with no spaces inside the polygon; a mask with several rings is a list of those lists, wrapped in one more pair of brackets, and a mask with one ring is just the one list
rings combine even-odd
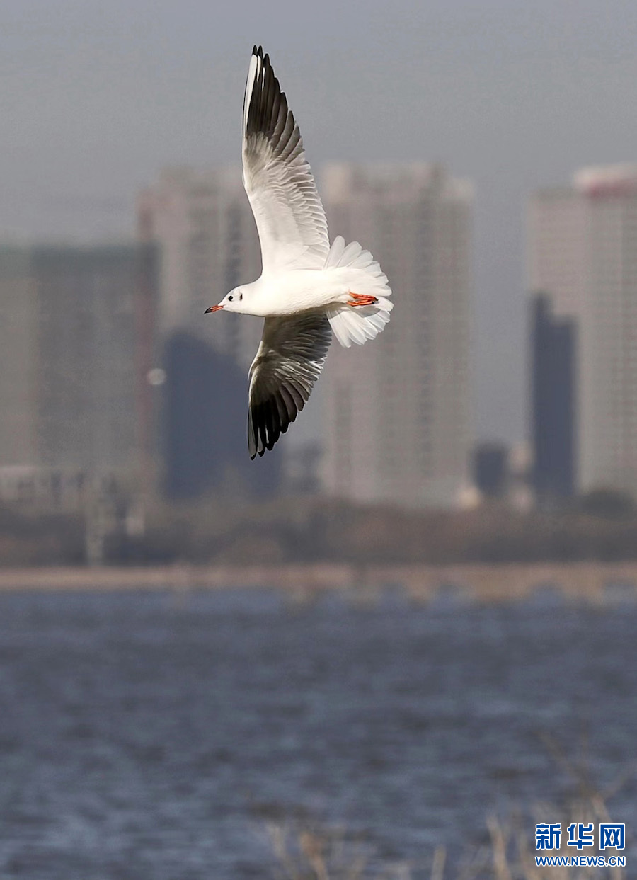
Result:
{"label": "hazy grey sky above and between the buildings", "polygon": [[473,180],[474,424],[523,437],[525,199],[637,158],[637,3],[0,0],[0,238],[125,235],[163,165],[238,161],[254,42],[315,167]]}

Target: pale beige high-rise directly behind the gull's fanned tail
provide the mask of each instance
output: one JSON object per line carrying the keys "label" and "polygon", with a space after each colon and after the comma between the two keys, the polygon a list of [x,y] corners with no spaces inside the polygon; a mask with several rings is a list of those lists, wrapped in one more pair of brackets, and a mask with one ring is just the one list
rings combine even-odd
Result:
{"label": "pale beige high-rise directly behind the gull's fanned tail", "polygon": [[454,506],[468,479],[472,187],[437,165],[329,165],[332,236],[357,239],[392,286],[392,319],[333,345],[323,486],[356,501]]}

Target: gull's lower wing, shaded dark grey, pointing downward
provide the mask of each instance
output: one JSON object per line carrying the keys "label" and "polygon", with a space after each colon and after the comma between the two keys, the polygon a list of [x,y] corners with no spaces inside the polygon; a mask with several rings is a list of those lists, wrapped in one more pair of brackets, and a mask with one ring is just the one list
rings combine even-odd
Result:
{"label": "gull's lower wing, shaded dark grey, pointing downward", "polygon": [[250,367],[250,458],[272,449],[305,406],[332,341],[325,312],[266,318]]}

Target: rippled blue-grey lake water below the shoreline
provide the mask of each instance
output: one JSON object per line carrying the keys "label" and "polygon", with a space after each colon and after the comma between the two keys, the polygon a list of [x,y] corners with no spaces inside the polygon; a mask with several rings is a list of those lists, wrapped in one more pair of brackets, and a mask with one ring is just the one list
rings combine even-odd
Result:
{"label": "rippled blue-grey lake water below the shoreline", "polygon": [[[565,794],[543,732],[573,757],[586,737],[602,786],[634,768],[636,644],[635,605],[550,595],[0,595],[0,876],[270,877],[289,821],[428,877],[489,811]],[[633,841],[634,777],[610,807]]]}

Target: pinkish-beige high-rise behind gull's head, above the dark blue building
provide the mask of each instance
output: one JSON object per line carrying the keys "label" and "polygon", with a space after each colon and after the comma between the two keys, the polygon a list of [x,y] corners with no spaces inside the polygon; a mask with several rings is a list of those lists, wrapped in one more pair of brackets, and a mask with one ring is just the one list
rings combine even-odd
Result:
{"label": "pinkish-beige high-rise behind gull's head, above the dark blue building", "polygon": [[245,370],[259,347],[263,320],[203,312],[260,275],[259,237],[238,166],[170,168],[138,202],[138,229],[159,247],[158,329],[201,336]]}

